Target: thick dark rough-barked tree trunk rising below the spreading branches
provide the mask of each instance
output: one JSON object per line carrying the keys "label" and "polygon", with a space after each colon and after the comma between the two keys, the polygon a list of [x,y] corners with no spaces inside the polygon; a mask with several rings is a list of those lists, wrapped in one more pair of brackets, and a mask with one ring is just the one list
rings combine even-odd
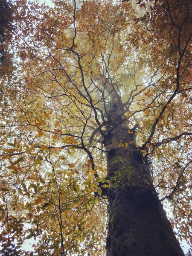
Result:
{"label": "thick dark rough-barked tree trunk rising below the spreading branches", "polygon": [[[120,140],[128,143],[127,148],[118,146]],[[183,256],[148,166],[124,122],[113,128],[106,149],[112,184],[108,192],[107,256]]]}

